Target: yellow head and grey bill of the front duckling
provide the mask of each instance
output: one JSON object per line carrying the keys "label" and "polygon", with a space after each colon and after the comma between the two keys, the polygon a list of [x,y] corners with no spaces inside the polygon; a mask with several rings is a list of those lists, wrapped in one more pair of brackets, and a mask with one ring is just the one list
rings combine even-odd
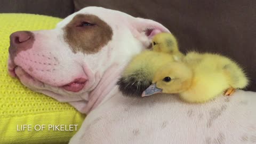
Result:
{"label": "yellow head and grey bill of the front duckling", "polygon": [[155,93],[180,93],[191,85],[193,73],[183,62],[171,62],[157,70],[153,84],[143,93],[142,97]]}

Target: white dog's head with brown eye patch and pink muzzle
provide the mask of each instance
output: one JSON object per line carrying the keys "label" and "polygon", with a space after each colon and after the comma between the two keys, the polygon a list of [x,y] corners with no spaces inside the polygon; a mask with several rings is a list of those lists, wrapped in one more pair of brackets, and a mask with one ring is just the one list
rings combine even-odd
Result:
{"label": "white dog's head with brown eye patch and pink muzzle", "polygon": [[102,80],[106,73],[105,79],[117,79],[115,71],[149,47],[159,32],[169,30],[152,20],[86,7],[55,29],[11,34],[9,73],[31,90],[60,101],[88,102],[93,90],[110,85]]}

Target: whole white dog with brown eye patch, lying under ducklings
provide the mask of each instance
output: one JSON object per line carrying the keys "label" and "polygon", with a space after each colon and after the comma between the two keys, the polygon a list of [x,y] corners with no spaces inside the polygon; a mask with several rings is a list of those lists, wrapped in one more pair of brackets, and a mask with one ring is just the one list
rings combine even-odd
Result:
{"label": "whole white dog with brown eye patch, lying under ducklings", "polygon": [[86,7],[53,30],[10,36],[9,72],[87,117],[70,143],[256,143],[256,93],[204,104],[175,95],[127,98],[116,81],[133,55],[168,32],[161,24]]}

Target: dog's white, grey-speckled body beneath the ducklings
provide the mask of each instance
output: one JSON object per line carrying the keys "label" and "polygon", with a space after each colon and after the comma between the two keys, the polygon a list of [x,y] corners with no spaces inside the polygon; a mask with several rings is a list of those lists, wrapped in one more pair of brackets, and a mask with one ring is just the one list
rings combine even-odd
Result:
{"label": "dog's white, grey-speckled body beneath the ducklings", "polygon": [[228,98],[194,105],[170,95],[147,99],[116,95],[88,115],[80,139],[86,143],[239,143],[256,136],[256,117],[254,123],[246,121],[253,118],[245,109]]}

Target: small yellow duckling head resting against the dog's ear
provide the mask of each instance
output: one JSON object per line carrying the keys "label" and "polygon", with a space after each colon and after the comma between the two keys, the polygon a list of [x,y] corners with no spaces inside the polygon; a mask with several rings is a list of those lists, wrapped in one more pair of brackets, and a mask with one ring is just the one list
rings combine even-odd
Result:
{"label": "small yellow duckling head resting against the dog's ear", "polygon": [[153,51],[177,53],[179,52],[177,39],[171,33],[159,33],[152,39]]}

